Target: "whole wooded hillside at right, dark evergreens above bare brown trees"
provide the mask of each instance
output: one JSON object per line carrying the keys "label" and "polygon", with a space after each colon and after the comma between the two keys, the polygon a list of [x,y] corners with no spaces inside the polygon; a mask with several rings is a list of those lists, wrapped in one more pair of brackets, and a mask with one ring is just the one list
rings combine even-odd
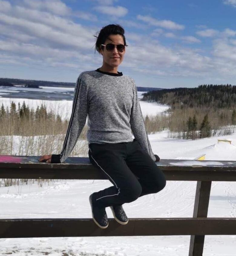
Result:
{"label": "whole wooded hillside at right, dark evergreens above bare brown trees", "polygon": [[[147,92],[143,99],[170,106],[167,114],[159,117],[165,124],[162,128],[169,129],[169,137],[196,139],[230,135],[235,130],[236,86],[164,89]],[[158,131],[149,123],[150,131]]]}

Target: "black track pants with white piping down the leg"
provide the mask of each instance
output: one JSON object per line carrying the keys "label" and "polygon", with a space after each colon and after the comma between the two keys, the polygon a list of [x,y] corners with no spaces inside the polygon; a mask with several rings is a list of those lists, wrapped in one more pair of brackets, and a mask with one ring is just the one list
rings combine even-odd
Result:
{"label": "black track pants with white piping down the leg", "polygon": [[132,202],[166,185],[163,172],[135,139],[116,144],[90,143],[89,159],[113,184],[94,193],[93,203],[98,207]]}

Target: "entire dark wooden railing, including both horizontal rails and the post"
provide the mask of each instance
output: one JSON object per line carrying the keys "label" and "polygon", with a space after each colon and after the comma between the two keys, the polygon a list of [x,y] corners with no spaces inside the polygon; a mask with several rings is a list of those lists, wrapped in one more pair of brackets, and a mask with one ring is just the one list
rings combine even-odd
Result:
{"label": "entire dark wooden railing, including both horizontal rails and the post", "polygon": [[[0,157],[0,178],[104,179],[88,158],[46,164],[39,157],[9,157]],[[157,165],[167,180],[197,181],[193,218],[131,218],[125,226],[109,219],[107,229],[92,219],[0,219],[0,238],[191,235],[188,255],[200,256],[205,235],[236,234],[236,218],[207,218],[211,182],[236,181],[236,161],[161,160]]]}

